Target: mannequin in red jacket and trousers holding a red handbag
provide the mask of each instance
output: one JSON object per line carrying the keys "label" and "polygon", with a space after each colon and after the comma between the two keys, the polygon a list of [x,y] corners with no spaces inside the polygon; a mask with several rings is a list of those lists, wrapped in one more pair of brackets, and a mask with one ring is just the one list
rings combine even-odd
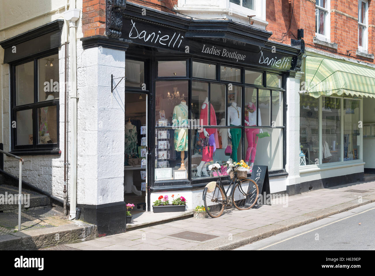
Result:
{"label": "mannequin in red jacket and trousers holding a red handbag", "polygon": [[[201,112],[200,112],[200,120],[203,125],[208,125],[208,97],[205,98]],[[210,124],[211,126],[216,126],[216,114],[215,110],[210,104]],[[219,147],[219,136],[217,135],[217,129],[203,129],[203,131],[199,134],[199,137],[202,139],[208,138],[208,145],[213,146],[213,152],[215,152],[216,148]],[[206,161],[201,161],[199,165],[196,167],[196,175],[198,177],[202,174],[203,166],[205,165]],[[207,169],[203,169],[203,175],[208,176]]]}

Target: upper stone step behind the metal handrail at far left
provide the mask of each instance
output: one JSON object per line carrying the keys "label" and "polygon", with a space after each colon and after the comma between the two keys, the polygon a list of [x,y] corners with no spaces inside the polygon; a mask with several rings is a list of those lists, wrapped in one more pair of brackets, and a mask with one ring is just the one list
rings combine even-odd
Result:
{"label": "upper stone step behind the metal handrail at far left", "polygon": [[[0,184],[0,212],[15,211],[18,212],[18,202],[15,201],[14,195],[18,195],[18,188],[6,184]],[[48,206],[51,204],[50,198],[37,192],[22,189],[23,209]],[[16,203],[16,204],[12,204]]]}

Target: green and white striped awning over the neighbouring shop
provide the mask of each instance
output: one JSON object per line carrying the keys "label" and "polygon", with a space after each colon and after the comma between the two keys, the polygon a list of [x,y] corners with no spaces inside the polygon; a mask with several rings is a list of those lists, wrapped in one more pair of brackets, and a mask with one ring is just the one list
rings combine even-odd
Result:
{"label": "green and white striped awning over the neighbouring shop", "polygon": [[309,96],[353,96],[375,98],[375,69],[339,60],[306,57],[306,83]]}

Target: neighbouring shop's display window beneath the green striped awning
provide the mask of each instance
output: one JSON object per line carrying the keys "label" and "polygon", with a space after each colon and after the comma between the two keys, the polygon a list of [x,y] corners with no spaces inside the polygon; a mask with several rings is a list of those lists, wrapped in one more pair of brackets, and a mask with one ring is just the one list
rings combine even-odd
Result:
{"label": "neighbouring shop's display window beneath the green striped awning", "polygon": [[300,147],[306,165],[360,159],[360,101],[300,95]]}

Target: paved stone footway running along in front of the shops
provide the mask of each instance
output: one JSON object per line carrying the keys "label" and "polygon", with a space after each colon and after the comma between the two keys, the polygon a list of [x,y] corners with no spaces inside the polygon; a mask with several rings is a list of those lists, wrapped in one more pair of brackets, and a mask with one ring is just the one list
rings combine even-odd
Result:
{"label": "paved stone footway running along in front of the shops", "polygon": [[218,218],[189,217],[65,246],[79,250],[231,250],[372,202],[375,181],[345,184],[273,199],[272,205],[258,209],[229,208]]}

